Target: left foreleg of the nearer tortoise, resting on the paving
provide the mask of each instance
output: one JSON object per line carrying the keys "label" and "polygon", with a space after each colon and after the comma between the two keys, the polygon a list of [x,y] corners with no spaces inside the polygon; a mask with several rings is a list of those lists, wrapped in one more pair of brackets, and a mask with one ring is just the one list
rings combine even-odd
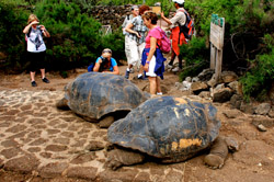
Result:
{"label": "left foreleg of the nearer tortoise, resting on the paving", "polygon": [[114,149],[107,155],[107,167],[112,170],[116,170],[122,166],[140,163],[144,161],[144,159],[145,156],[139,152]]}

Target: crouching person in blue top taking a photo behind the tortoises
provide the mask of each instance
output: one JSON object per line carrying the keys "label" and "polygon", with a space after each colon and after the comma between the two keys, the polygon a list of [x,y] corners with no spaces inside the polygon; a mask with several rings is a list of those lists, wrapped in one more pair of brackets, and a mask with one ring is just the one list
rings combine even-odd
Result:
{"label": "crouching person in blue top taking a photo behind the tortoises", "polygon": [[112,57],[112,50],[110,48],[103,49],[102,55],[95,61],[93,71],[119,75],[118,65]]}

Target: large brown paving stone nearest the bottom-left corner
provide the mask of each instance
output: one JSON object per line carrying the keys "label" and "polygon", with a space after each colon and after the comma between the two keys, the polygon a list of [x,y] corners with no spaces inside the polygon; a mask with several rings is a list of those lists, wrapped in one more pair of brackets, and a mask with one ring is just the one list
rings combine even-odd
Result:
{"label": "large brown paving stone nearest the bottom-left corner", "polygon": [[13,158],[5,162],[3,169],[21,173],[31,173],[41,162],[34,155],[25,155],[19,158]]}

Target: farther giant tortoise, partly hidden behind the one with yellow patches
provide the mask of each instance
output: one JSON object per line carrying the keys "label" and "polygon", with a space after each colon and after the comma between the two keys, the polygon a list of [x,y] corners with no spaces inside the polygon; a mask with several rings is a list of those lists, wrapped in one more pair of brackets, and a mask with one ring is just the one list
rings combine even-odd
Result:
{"label": "farther giant tortoise, partly hidden behind the one with yellow patches", "polygon": [[102,72],[80,75],[67,84],[65,92],[56,104],[58,109],[70,109],[90,122],[101,120],[102,127],[116,120],[114,114],[124,117],[146,100],[145,93],[129,80]]}

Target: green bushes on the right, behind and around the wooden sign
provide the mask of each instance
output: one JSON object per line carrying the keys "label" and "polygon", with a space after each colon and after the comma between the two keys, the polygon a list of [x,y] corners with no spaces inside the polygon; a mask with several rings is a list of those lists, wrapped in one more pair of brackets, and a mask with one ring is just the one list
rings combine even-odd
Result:
{"label": "green bushes on the right, behind and around the wooden sign", "polygon": [[[226,22],[222,70],[232,70],[242,76],[247,101],[250,96],[259,98],[262,94],[261,98],[265,98],[274,81],[273,1],[192,0],[185,2],[185,8],[195,19],[196,38],[199,41],[194,38],[181,47],[187,66],[180,75],[181,80],[209,67],[208,34],[210,15],[214,13],[225,18]],[[243,75],[242,69],[246,70]]]}

